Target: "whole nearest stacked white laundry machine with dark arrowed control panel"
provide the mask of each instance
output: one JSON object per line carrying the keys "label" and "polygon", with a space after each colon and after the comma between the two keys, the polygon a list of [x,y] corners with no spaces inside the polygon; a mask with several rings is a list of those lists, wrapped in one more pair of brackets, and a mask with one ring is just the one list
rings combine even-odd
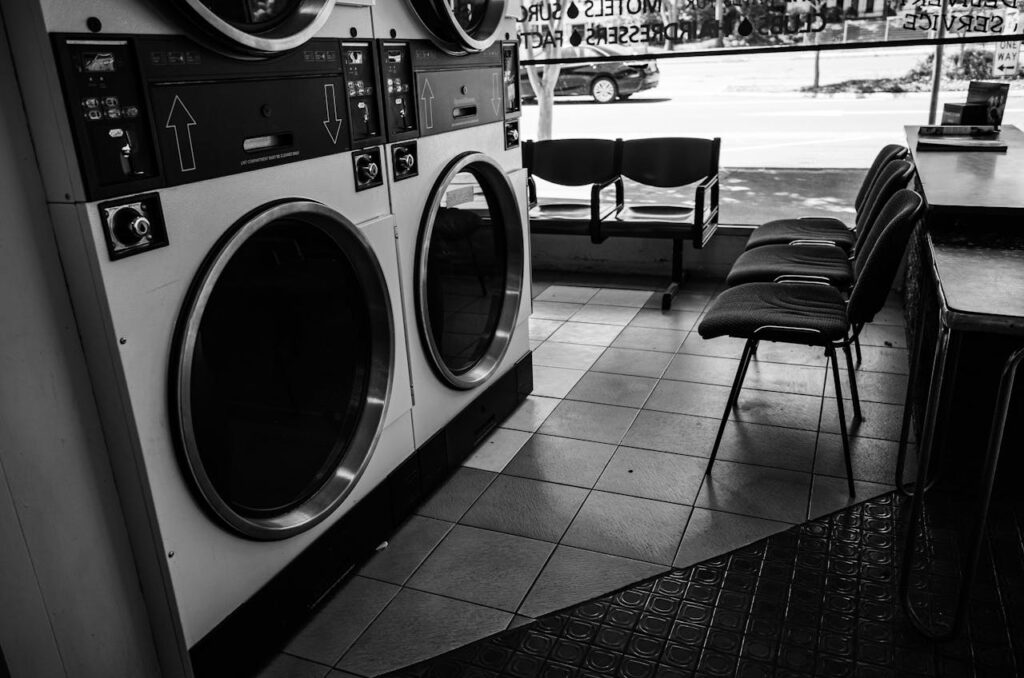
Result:
{"label": "whole nearest stacked white laundry machine with dark arrowed control panel", "polygon": [[371,3],[0,1],[162,668],[228,675],[415,449]]}

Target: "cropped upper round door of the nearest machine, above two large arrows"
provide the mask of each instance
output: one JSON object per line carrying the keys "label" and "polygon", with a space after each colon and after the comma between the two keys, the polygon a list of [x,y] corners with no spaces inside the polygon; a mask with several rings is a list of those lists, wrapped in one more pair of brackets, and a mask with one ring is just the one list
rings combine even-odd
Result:
{"label": "cropped upper round door of the nearest machine, above two large arrows", "polygon": [[[392,0],[393,1],[393,0]],[[324,26],[335,0],[163,0],[218,51],[242,58],[294,49]]]}

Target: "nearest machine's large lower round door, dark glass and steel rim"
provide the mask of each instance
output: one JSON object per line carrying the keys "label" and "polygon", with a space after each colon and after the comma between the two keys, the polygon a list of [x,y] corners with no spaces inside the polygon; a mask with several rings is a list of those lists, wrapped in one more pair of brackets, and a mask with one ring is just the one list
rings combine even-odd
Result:
{"label": "nearest machine's large lower round door, dark glass and steel rim", "polygon": [[308,201],[243,219],[193,283],[171,361],[172,422],[212,513],[258,540],[326,518],[384,424],[394,327],[358,228]]}

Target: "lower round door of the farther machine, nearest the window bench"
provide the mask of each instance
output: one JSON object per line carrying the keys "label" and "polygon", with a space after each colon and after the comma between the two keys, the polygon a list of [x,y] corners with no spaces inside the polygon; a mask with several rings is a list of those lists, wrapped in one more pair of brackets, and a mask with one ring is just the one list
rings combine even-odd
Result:
{"label": "lower round door of the farther machine, nearest the window bench", "polygon": [[456,158],[430,194],[416,258],[416,311],[434,372],[453,388],[484,383],[509,347],[523,282],[523,223],[505,171]]}

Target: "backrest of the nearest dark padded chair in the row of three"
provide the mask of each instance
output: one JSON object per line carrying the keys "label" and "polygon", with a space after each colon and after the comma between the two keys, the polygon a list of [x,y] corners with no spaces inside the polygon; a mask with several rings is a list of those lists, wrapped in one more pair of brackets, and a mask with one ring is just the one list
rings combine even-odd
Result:
{"label": "backrest of the nearest dark padded chair in the row of three", "polygon": [[883,206],[863,244],[865,256],[853,265],[857,282],[847,305],[851,324],[870,323],[882,310],[924,204],[915,192],[901,188]]}

